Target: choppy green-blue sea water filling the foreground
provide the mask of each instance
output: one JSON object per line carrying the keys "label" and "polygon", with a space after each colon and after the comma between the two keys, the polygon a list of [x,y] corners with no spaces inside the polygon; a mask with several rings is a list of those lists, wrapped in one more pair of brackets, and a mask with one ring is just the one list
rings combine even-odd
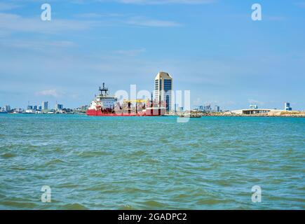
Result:
{"label": "choppy green-blue sea water filling the foreground", "polygon": [[305,118],[0,114],[0,209],[305,209]]}

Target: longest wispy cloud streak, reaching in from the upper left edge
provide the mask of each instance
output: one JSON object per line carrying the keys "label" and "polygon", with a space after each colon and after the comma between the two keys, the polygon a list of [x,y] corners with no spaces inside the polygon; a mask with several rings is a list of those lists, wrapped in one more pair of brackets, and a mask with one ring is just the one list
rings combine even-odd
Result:
{"label": "longest wispy cloud streak, reaching in from the upper left edge", "polygon": [[[141,16],[130,17],[129,15],[114,15],[114,14],[94,14],[89,13],[82,15],[90,18],[90,20],[63,20],[54,19],[52,21],[41,21],[40,18],[24,18],[17,14],[0,13],[0,30],[1,32],[27,32],[36,34],[59,34],[69,31],[84,31],[103,26],[114,25],[133,25],[140,27],[178,27],[178,22],[168,20],[156,20],[144,18]],[[104,17],[102,19],[101,17]],[[116,20],[109,18],[116,17]],[[121,17],[121,18],[118,18]],[[94,19],[93,19],[94,18]]]}

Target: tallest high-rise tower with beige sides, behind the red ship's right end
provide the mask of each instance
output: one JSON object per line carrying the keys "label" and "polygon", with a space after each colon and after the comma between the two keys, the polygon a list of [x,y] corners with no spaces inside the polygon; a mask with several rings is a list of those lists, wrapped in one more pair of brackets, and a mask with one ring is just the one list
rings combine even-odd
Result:
{"label": "tallest high-rise tower with beige sides, behind the red ship's right end", "polygon": [[159,72],[155,78],[155,94],[158,102],[166,103],[166,111],[171,111],[172,76],[166,72]]}

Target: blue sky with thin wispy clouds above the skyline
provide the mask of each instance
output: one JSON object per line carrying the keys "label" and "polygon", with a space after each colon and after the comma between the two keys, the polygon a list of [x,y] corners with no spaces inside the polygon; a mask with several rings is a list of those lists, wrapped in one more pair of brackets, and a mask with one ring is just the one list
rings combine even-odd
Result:
{"label": "blue sky with thin wispy clouds above the skyline", "polygon": [[305,110],[304,40],[304,0],[0,0],[0,106],[74,108],[166,71],[191,106]]}

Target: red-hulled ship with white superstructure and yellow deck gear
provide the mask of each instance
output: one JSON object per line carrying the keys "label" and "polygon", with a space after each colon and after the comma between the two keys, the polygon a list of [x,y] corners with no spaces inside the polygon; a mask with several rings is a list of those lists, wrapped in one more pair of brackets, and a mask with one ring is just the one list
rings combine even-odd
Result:
{"label": "red-hulled ship with white superstructure and yellow deck gear", "polygon": [[118,98],[109,95],[107,87],[99,89],[100,94],[93,99],[86,114],[88,116],[164,116],[166,105],[151,99],[124,99],[118,102]]}

